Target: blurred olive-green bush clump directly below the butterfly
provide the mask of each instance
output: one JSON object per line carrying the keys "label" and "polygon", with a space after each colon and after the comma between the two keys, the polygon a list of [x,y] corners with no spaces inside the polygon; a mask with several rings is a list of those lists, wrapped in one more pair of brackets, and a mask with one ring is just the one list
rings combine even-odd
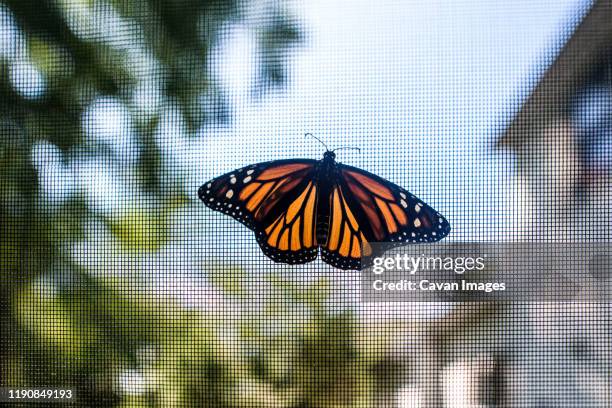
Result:
{"label": "blurred olive-green bush clump directly below the butterfly", "polygon": [[305,285],[274,275],[269,280],[274,293],[264,312],[243,327],[251,334],[253,374],[291,396],[292,403],[282,406],[367,406],[369,358],[357,347],[353,313],[331,311],[329,282]]}

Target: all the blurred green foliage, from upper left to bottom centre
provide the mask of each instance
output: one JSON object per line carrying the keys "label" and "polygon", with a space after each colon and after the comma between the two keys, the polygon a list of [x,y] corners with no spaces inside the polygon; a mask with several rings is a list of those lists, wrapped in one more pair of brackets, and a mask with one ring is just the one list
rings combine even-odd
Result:
{"label": "all the blurred green foliage, from upper left to bottom centre", "polygon": [[212,68],[233,23],[260,42],[253,95],[284,83],[299,27],[281,3],[262,4],[253,24],[251,4],[233,0],[0,2],[0,385],[71,386],[77,405],[96,407],[370,400],[375,364],[355,316],[328,308],[326,280],[271,275],[253,309],[244,270],[211,268],[208,281],[248,311],[229,318],[73,258],[104,234],[116,245],[98,249],[124,259],[173,239],[191,198],[165,160],[162,124],[170,116],[191,137],[229,123]]}

